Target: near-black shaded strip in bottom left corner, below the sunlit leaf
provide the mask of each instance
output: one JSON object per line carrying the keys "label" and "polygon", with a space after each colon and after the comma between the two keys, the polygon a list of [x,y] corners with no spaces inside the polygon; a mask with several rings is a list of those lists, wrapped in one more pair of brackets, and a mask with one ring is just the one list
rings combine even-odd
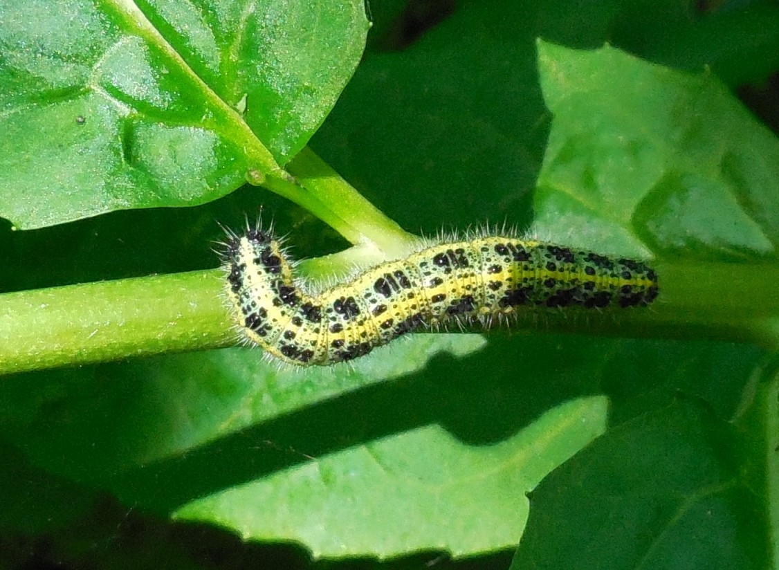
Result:
{"label": "near-black shaded strip in bottom left corner, below the sunlit leaf", "polygon": [[390,561],[312,561],[296,543],[245,542],[203,523],[171,522],[111,495],[48,473],[0,440],[0,567],[41,568],[333,568],[394,570],[506,568],[511,551],[453,561],[426,551]]}

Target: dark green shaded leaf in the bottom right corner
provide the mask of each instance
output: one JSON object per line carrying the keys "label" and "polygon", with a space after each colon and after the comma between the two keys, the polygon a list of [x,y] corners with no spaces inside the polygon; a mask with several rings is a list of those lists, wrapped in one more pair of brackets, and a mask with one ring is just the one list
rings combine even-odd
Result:
{"label": "dark green shaded leaf in the bottom right corner", "polygon": [[766,568],[765,497],[735,435],[689,401],[608,431],[531,497],[512,568]]}

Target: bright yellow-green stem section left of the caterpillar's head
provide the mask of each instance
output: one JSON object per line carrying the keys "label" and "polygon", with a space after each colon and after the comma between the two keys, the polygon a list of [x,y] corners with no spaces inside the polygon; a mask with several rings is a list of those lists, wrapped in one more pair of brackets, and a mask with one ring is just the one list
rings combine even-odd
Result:
{"label": "bright yellow-green stem section left of the caterpillar's head", "polygon": [[213,269],[0,295],[0,375],[229,346],[223,279]]}

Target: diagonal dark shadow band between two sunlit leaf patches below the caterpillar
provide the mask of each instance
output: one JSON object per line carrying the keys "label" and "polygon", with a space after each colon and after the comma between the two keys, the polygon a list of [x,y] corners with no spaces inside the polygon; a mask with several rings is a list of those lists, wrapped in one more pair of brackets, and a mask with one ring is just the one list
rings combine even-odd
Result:
{"label": "diagonal dark shadow band between two sunlit leaf patches below the caterpillar", "polygon": [[534,350],[553,354],[558,338],[549,335],[524,347],[516,338],[498,338],[478,357],[438,357],[418,375],[249,427],[122,473],[108,487],[167,513],[312,458],[429,424],[442,425],[469,445],[501,442],[559,403],[597,393],[601,378],[582,375],[579,357],[545,363],[532,356]]}

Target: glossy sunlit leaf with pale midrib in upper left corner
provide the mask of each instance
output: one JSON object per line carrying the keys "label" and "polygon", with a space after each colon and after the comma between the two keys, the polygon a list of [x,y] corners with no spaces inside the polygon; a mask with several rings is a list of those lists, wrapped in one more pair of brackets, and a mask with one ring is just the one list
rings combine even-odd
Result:
{"label": "glossy sunlit leaf with pale midrib in upper left corner", "polygon": [[23,228],[287,180],[368,30],[361,0],[3,0],[0,14],[0,215]]}

